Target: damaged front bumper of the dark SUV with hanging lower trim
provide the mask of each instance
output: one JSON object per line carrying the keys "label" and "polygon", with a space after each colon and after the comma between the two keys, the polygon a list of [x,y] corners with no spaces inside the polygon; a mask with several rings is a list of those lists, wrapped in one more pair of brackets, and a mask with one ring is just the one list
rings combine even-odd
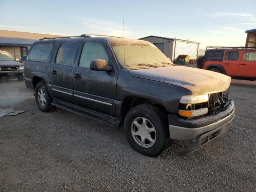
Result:
{"label": "damaged front bumper of the dark SUV with hanging lower trim", "polygon": [[214,115],[206,115],[193,120],[185,120],[176,115],[168,115],[170,138],[190,141],[196,138],[192,148],[178,151],[178,156],[190,154],[226,132],[235,117],[235,106],[229,101],[228,108]]}

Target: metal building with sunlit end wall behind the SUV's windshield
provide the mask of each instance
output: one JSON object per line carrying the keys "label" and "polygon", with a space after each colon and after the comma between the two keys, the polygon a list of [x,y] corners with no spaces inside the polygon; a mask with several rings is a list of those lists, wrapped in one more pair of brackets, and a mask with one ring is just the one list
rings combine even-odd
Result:
{"label": "metal building with sunlit end wall behind the SUV's windshield", "polygon": [[153,35],[140,38],[140,40],[145,40],[153,43],[173,62],[179,55],[188,55],[190,56],[190,59],[193,60],[196,60],[198,58],[198,50],[200,44],[198,42]]}

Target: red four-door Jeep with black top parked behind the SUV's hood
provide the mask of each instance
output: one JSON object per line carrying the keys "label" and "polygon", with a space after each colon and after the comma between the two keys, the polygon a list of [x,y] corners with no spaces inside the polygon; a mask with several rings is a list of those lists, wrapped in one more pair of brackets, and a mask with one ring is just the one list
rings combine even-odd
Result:
{"label": "red four-door Jeep with black top parked behind the SUV's hood", "polygon": [[206,47],[205,55],[198,58],[197,68],[232,78],[256,79],[256,48]]}

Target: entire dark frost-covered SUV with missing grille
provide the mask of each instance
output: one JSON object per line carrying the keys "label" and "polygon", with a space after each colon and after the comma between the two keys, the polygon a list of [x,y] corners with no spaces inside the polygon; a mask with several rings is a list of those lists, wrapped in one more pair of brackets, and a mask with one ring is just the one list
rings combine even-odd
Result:
{"label": "entire dark frost-covered SUV with missing grille", "polygon": [[129,144],[157,156],[169,139],[195,140],[189,154],[225,132],[234,119],[231,78],[176,66],[154,44],[81,35],[35,42],[25,62],[25,83],[36,104],[124,124]]}

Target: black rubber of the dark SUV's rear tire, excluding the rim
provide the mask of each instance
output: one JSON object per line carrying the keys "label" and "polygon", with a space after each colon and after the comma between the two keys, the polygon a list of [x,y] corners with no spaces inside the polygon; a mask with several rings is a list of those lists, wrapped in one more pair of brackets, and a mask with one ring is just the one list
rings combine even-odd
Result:
{"label": "black rubber of the dark SUV's rear tire, excluding the rim", "polygon": [[[44,94],[45,94],[45,99],[46,99],[46,102],[45,102],[45,105],[44,106],[41,106],[39,104],[39,101],[38,101],[38,90],[42,89],[44,91]],[[50,109],[50,106],[51,106],[51,102],[52,102],[52,98],[48,92],[48,89],[47,89],[47,86],[46,86],[46,83],[44,81],[40,81],[37,85],[36,85],[36,89],[35,89],[35,98],[36,98],[36,104],[38,106],[38,108],[42,111],[42,112],[48,112],[48,110]]]}

